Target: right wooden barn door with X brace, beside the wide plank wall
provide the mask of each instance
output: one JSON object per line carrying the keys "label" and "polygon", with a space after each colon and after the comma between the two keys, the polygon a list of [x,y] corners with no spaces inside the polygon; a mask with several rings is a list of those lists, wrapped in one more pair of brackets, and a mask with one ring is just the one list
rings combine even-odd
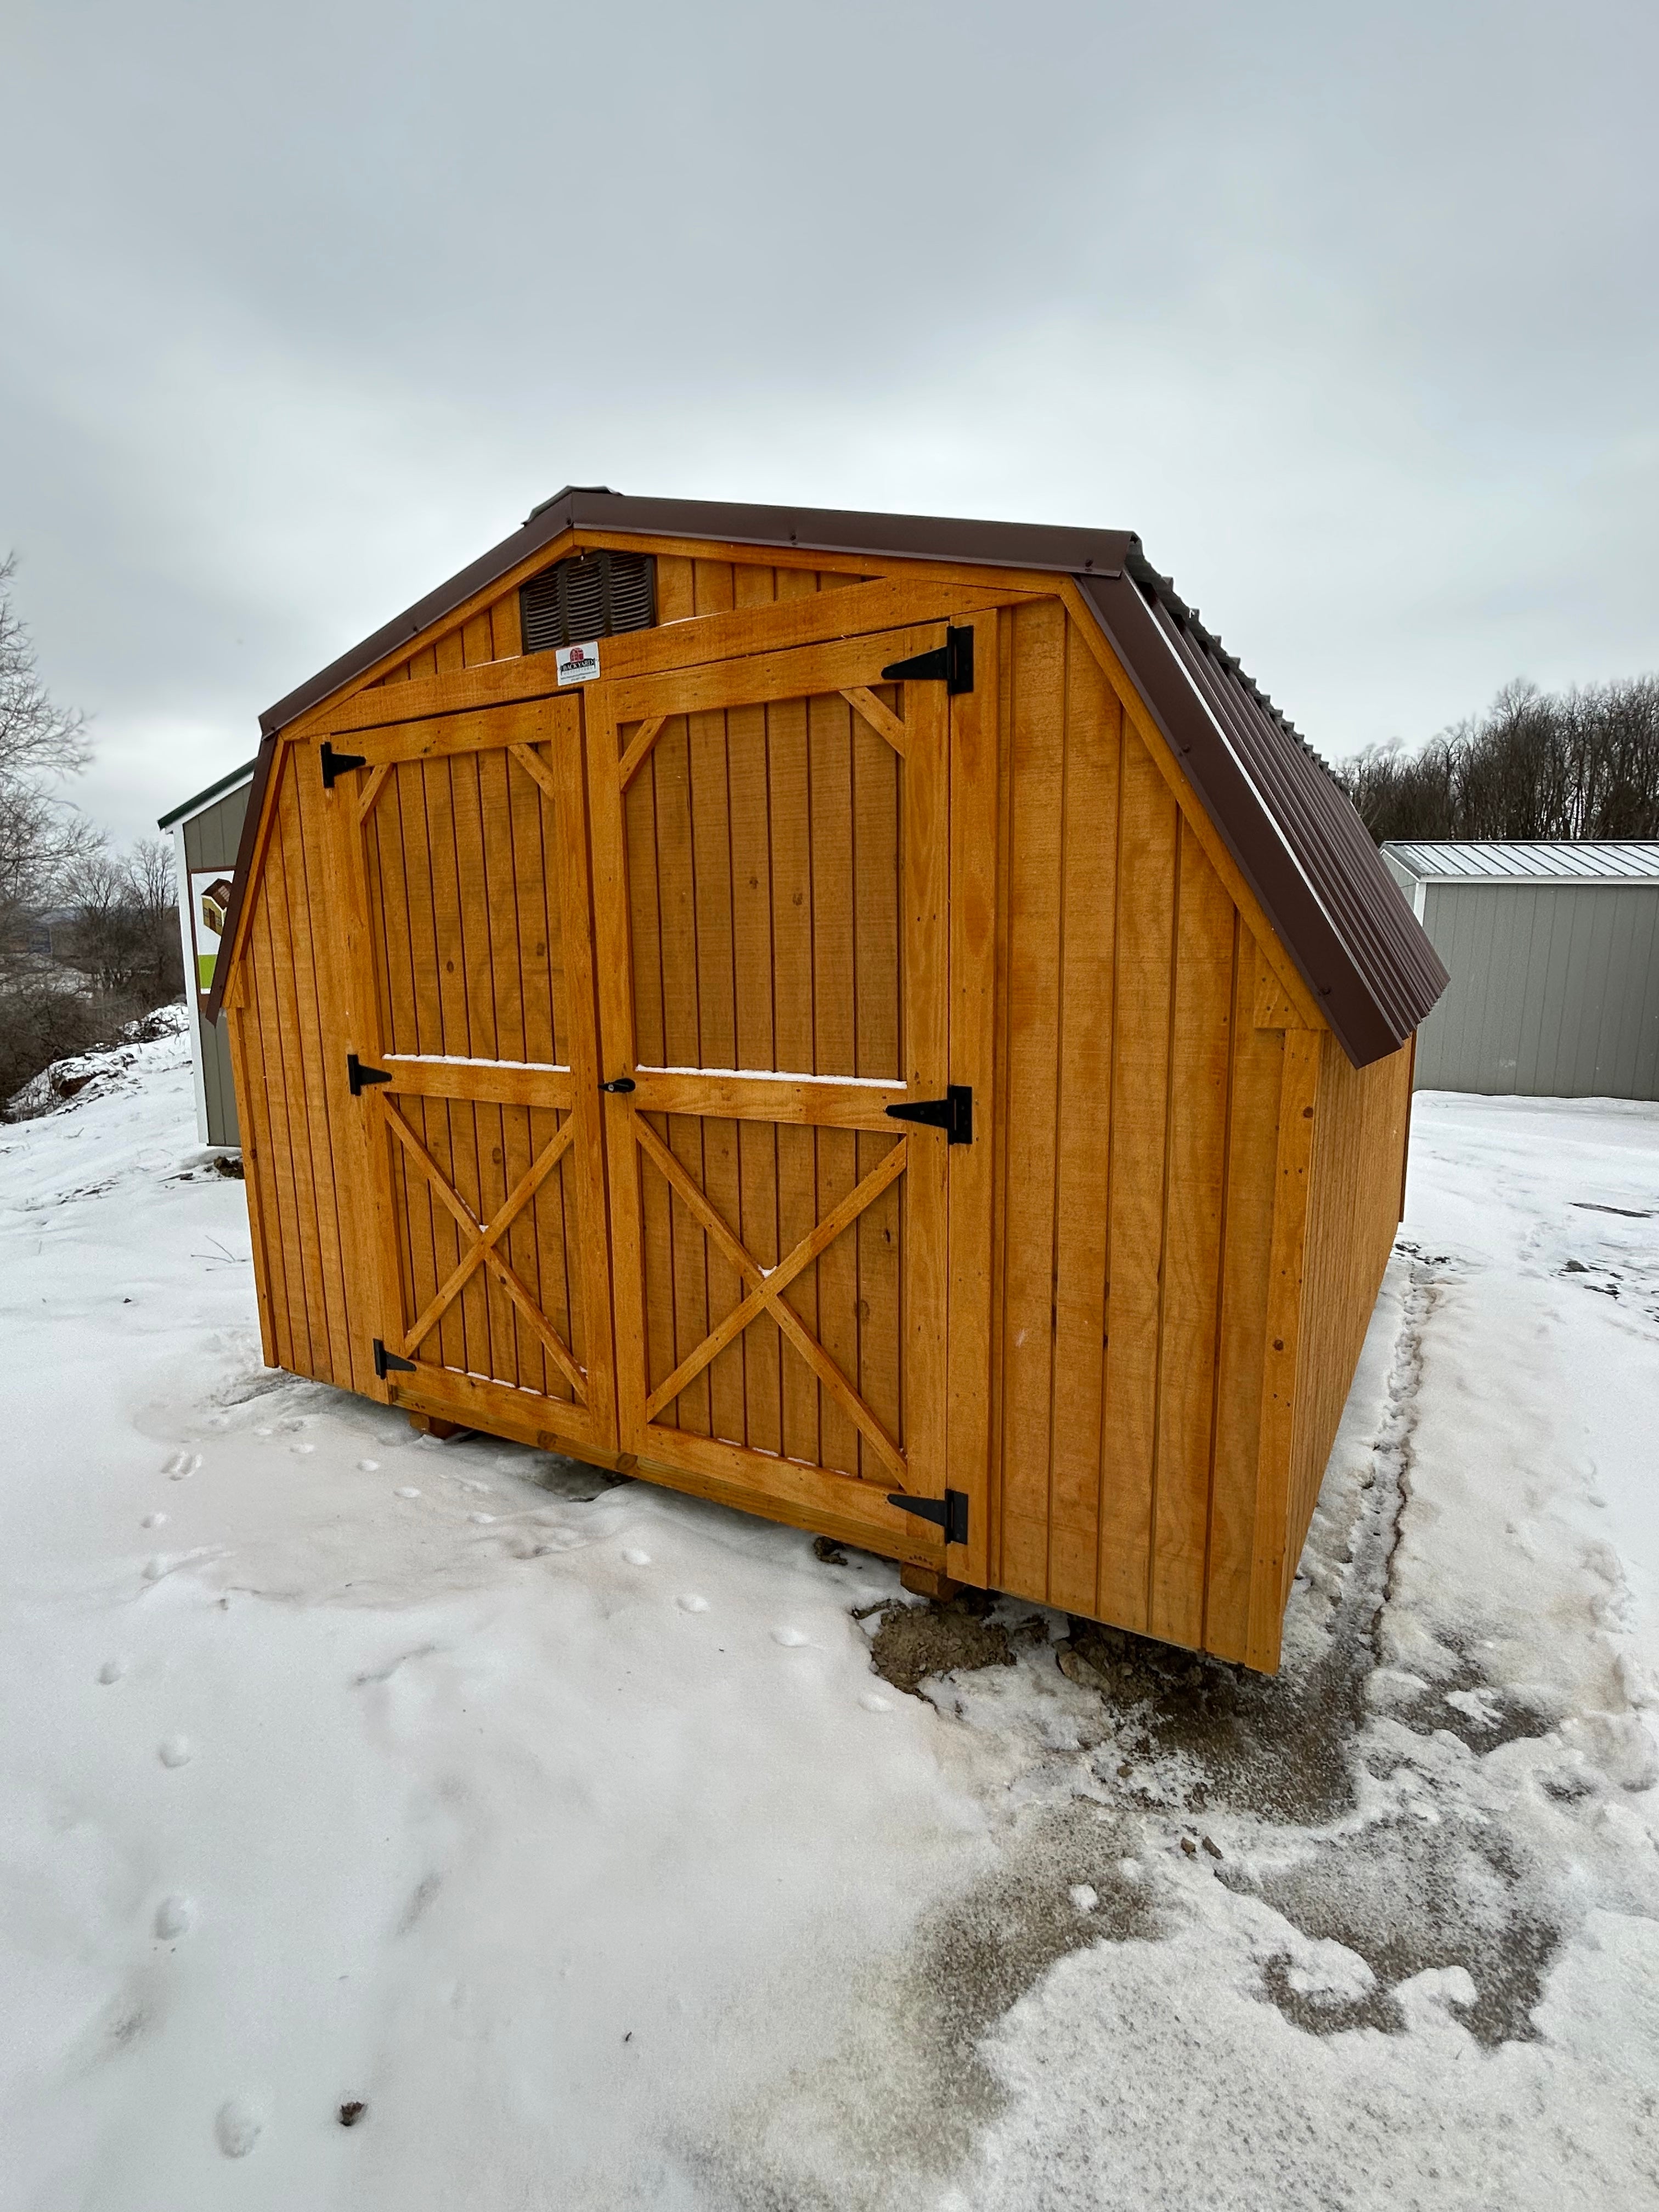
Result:
{"label": "right wooden barn door with X brace, beside the wide plank wall", "polygon": [[951,688],[883,677],[945,635],[597,681],[584,723],[622,1447],[967,1575]]}

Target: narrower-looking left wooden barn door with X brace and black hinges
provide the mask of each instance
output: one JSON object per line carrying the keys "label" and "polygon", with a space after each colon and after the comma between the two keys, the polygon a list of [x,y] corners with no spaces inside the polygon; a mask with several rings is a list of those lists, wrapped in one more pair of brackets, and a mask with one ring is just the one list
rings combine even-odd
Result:
{"label": "narrower-looking left wooden barn door with X brace and black hinges", "polygon": [[613,1451],[580,708],[354,728],[321,763],[389,1396]]}

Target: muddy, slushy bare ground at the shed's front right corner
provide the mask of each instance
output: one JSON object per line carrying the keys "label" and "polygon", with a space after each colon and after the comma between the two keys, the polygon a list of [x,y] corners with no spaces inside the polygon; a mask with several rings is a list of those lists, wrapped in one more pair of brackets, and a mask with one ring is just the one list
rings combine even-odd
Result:
{"label": "muddy, slushy bare ground at the shed's front right corner", "polygon": [[[1564,1703],[1544,1683],[1493,1681],[1467,1628],[1425,1637],[1413,1624],[1413,1670],[1398,1666],[1391,1562],[1411,1495],[1422,1336],[1447,1265],[1407,1254],[1378,1436],[1347,1489],[1327,1482],[1276,1677],[1095,1621],[1062,1626],[984,1593],[880,1608],[872,1668],[969,1725],[1006,1725],[1035,1692],[1064,1739],[1064,1705],[1071,1787],[1095,1803],[1066,1814],[1060,1858],[1099,1869],[1139,1851],[1157,1869],[1179,1854],[1270,1907],[1287,1929],[1283,1949],[1263,1951],[1259,1995],[1292,2026],[1400,2033],[1396,1991],[1451,1969],[1458,2017],[1493,2048],[1537,2033],[1544,1978],[1584,1911],[1571,1854],[1540,1847],[1535,1805],[1573,1803],[1606,1776],[1562,1756],[1509,1778],[1493,1754],[1553,1736]],[[1506,1818],[1517,1787],[1526,1816]],[[909,1986],[938,1989],[936,2033],[956,2064],[962,2037],[971,2044],[1066,1949],[1155,1933],[1146,1889],[1130,1891],[1135,1911],[1099,1918],[1066,1913],[1057,1876],[1042,1898],[1024,1896],[1020,1882],[1053,1858],[1062,1829],[1051,1823],[1053,1809],[1015,1816],[1009,1876],[918,1933]],[[1296,1964],[1310,1944],[1338,1944],[1347,1971],[1310,1978]]]}

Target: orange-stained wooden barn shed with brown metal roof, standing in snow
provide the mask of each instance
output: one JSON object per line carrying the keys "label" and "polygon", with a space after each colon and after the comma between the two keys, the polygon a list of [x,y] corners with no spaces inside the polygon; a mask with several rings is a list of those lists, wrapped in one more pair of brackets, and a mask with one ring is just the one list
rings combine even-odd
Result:
{"label": "orange-stained wooden barn shed with brown metal roof, standing in snow", "polygon": [[226,940],[272,1365],[1279,1663],[1444,971],[1133,533],[562,491]]}

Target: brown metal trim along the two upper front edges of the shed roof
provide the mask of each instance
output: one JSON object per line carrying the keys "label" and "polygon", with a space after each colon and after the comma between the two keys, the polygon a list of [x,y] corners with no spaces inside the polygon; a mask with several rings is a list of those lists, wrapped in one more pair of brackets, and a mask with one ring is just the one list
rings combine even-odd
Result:
{"label": "brown metal trim along the two upper front edges of the shed roof", "polygon": [[414,606],[380,624],[349,653],[265,708],[261,732],[285,728],[352,677],[531,560],[566,531],[615,531],[624,538],[714,538],[723,544],[787,546],[792,553],[838,553],[869,560],[942,560],[975,568],[1035,568],[1051,575],[1117,575],[1139,546],[1133,531],[1086,531],[1048,522],[962,522],[951,515],[874,515],[841,507],[748,507],[734,500],[630,500],[619,491],[566,484],[489,553],[458,568]]}

